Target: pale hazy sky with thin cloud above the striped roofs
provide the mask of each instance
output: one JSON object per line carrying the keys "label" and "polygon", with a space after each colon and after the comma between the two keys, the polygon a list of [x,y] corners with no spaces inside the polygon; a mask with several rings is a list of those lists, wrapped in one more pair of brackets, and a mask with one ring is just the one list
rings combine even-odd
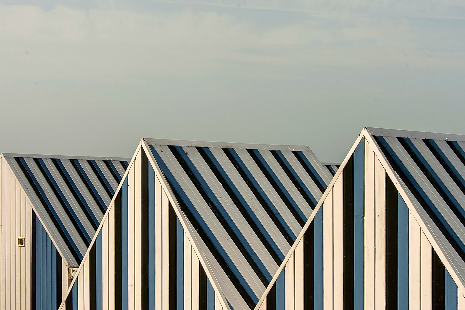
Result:
{"label": "pale hazy sky with thin cloud above the striped roofs", "polygon": [[0,0],[0,152],[465,134],[462,0]]}

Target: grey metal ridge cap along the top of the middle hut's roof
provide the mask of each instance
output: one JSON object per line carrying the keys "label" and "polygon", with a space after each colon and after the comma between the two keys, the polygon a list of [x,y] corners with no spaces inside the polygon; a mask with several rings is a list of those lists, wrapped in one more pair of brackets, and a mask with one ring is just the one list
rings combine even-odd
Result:
{"label": "grey metal ridge cap along the top of the middle hut's roof", "polygon": [[144,138],[142,140],[144,140],[146,144],[148,145],[201,146],[201,147],[255,149],[255,150],[272,150],[272,151],[312,151],[308,145],[249,144],[249,143],[228,143],[228,142],[150,139],[150,138]]}

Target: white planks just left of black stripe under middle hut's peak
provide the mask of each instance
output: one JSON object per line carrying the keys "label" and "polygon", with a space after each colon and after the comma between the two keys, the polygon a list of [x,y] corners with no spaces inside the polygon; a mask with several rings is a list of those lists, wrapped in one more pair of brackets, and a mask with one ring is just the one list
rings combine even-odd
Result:
{"label": "white planks just left of black stripe under middle hut's peak", "polygon": [[[139,160],[138,160],[139,159]],[[136,155],[133,167],[128,172],[128,191],[127,191],[127,239],[128,239],[128,309],[135,310],[135,210],[134,210],[134,199],[135,199],[135,167],[140,164],[140,153]]]}

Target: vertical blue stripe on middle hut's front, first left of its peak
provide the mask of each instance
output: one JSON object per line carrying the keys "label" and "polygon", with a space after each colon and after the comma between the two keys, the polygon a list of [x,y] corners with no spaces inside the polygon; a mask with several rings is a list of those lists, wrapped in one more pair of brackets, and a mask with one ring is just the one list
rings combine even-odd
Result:
{"label": "vertical blue stripe on middle hut's front, first left of its peak", "polygon": [[128,180],[121,187],[121,309],[128,310]]}

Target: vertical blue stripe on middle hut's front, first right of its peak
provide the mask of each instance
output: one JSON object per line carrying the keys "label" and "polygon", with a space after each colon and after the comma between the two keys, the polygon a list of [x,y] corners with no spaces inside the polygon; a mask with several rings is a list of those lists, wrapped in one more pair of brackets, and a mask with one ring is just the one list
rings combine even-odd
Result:
{"label": "vertical blue stripe on middle hut's front, first right of its peak", "polygon": [[148,309],[155,309],[155,171],[148,165]]}

